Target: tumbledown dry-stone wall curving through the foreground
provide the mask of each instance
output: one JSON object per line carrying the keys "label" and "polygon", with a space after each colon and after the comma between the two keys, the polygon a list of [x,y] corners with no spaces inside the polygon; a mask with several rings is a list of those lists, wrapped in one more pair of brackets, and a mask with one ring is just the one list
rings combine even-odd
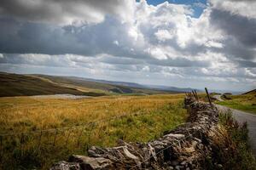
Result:
{"label": "tumbledown dry-stone wall curving through the foreground", "polygon": [[212,133],[216,131],[218,110],[213,105],[184,99],[189,120],[160,139],[142,143],[119,142],[113,148],[93,146],[88,156],[70,156],[51,170],[102,169],[205,169],[211,156]]}

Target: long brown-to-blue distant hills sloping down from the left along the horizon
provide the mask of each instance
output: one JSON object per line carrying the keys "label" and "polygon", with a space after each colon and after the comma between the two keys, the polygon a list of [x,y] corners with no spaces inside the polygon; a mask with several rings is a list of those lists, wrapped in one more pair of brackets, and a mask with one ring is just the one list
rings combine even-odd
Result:
{"label": "long brown-to-blue distant hills sloping down from the left along the horizon", "polygon": [[83,77],[20,75],[0,72],[0,97],[44,94],[74,94],[102,96],[109,94],[170,94],[191,91],[192,88],[142,85],[134,82],[114,82]]}

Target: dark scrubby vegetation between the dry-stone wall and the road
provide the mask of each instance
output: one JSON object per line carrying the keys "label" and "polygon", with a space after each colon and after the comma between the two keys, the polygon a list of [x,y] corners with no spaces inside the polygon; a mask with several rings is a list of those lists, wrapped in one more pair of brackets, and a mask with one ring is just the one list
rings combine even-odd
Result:
{"label": "dark scrubby vegetation between the dry-stone wall and the road", "polygon": [[[255,170],[256,161],[248,144],[247,123],[239,125],[230,112],[219,116],[220,128],[215,135],[213,155],[208,169],[216,169],[211,162],[218,162],[217,169]],[[212,167],[212,168],[211,168]]]}

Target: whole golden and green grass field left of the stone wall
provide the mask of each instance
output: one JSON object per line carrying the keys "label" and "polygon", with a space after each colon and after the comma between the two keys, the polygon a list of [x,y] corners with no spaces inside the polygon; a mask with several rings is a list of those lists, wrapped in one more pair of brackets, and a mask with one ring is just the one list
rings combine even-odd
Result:
{"label": "whole golden and green grass field left of the stone wall", "polygon": [[[48,169],[70,154],[86,154],[91,145],[159,138],[187,119],[183,94],[93,99],[10,97],[0,98],[0,112],[0,133],[15,133],[1,138],[1,161],[8,169]],[[119,117],[100,122],[113,116]]]}

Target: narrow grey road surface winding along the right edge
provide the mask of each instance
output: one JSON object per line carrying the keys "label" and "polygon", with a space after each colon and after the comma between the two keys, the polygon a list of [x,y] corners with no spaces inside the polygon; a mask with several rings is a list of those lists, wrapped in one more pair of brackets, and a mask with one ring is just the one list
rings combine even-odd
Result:
{"label": "narrow grey road surface winding along the right edge", "polygon": [[[223,105],[217,105],[219,110],[229,110],[230,108]],[[249,143],[253,150],[253,155],[256,156],[256,115],[244,112],[237,111],[235,109],[230,109],[233,113],[233,116],[236,118],[236,121],[239,123],[247,122],[247,128],[249,130]]]}

